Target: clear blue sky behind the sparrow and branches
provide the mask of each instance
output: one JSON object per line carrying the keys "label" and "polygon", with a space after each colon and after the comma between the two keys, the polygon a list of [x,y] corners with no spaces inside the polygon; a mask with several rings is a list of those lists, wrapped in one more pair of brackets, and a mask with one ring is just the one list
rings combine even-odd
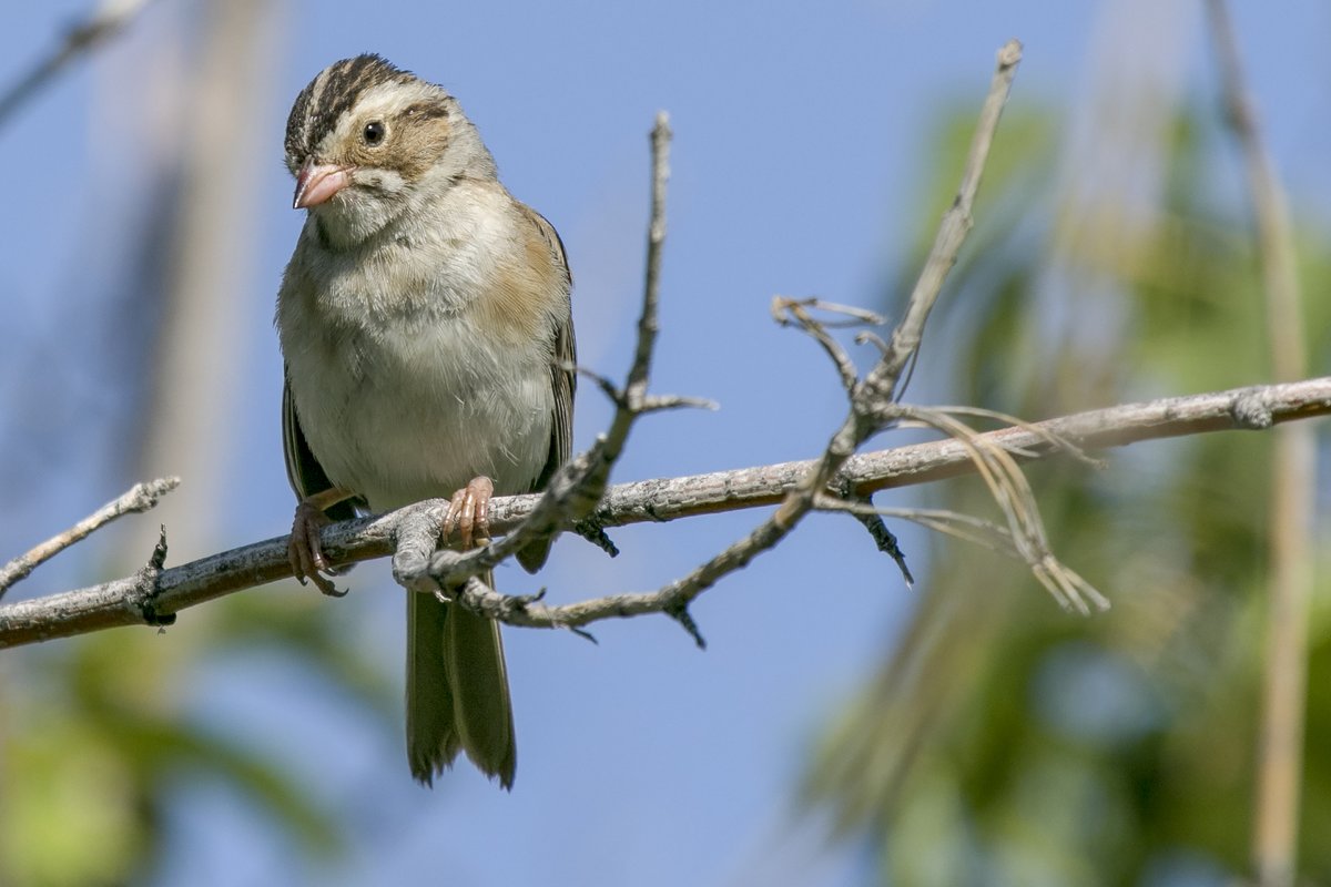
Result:
{"label": "clear blue sky behind the sparrow and branches", "polygon": [[[11,211],[0,221],[7,243],[0,283],[11,317],[21,319],[11,336],[49,328],[68,317],[71,301],[96,302],[96,277],[89,282],[79,270],[84,259],[92,267],[108,261],[98,255],[100,234],[130,211],[134,164],[152,150],[108,144],[125,130],[108,120],[106,109],[117,105],[106,84],[133,70],[152,41],[173,33],[178,5],[158,0],[128,35],[0,130],[0,162],[21,173],[7,185]],[[1280,172],[1300,202],[1324,206],[1331,63],[1323,49],[1331,12],[1312,0],[1236,5]],[[942,109],[978,109],[1006,39],[1025,44],[1014,106],[1075,109],[1091,65],[1105,64],[1097,35],[1123,36],[1111,48],[1121,56],[1113,64],[1130,73],[1150,66],[1146,53],[1162,52],[1153,35],[1167,20],[1167,33],[1178,37],[1163,51],[1181,60],[1183,93],[1210,100],[1199,7],[1171,13],[1154,7],[1149,0],[274,4],[270,39],[281,51],[270,89],[256,96],[253,129],[236,134],[257,138],[265,160],[252,182],[254,218],[244,234],[253,258],[234,294],[245,339],[234,358],[240,395],[217,465],[226,495],[216,547],[280,535],[290,521],[270,315],[301,218],[289,209],[281,134],[291,98],[326,64],[374,51],[459,97],[510,190],[559,229],[575,277],[580,362],[612,375],[623,371],[632,344],[647,132],[658,109],[672,114],[655,387],[712,398],[723,408],[646,419],[619,467],[619,479],[628,480],[808,457],[821,448],[843,415],[839,386],[811,343],[771,323],[768,302],[773,294],[858,305],[881,298],[898,257],[936,222],[921,215],[918,190],[930,164],[930,126]],[[84,8],[49,3],[8,23],[0,82]],[[63,359],[87,360],[65,370],[76,376],[98,372],[96,354]],[[4,384],[12,395],[40,383],[11,375]],[[88,410],[77,402],[80,391],[87,396],[87,386],[75,386],[75,403],[45,408]],[[598,395],[584,390],[575,444],[586,445],[607,416]],[[19,420],[5,424],[0,418],[7,445],[21,448]],[[24,459],[39,475],[61,468],[32,453]],[[63,473],[73,479],[27,488],[21,519],[11,513],[0,523],[0,551],[25,548],[136,480],[96,459]],[[555,600],[654,588],[757,519],[728,515],[619,531],[616,561],[564,540],[539,581]],[[922,567],[928,541],[909,531],[902,537]],[[69,560],[35,577],[25,593],[87,577],[88,561]],[[499,582],[508,590],[535,588],[516,569],[500,572]],[[366,642],[395,662],[402,606],[386,565],[359,568],[354,585],[370,598],[355,610],[366,617]],[[1040,593],[1034,584],[1033,593]],[[310,605],[333,604],[311,598]],[[598,646],[508,630],[520,751],[511,795],[469,767],[433,793],[419,790],[398,737],[358,723],[345,702],[318,697],[310,676],[272,654],[210,669],[192,713],[272,749],[330,801],[355,810],[362,827],[331,883],[429,882],[431,872],[463,884],[853,883],[869,863],[853,848],[821,850],[816,827],[793,824],[792,787],[820,723],[889,652],[910,605],[912,593],[862,532],[844,519],[816,517],[703,598],[695,614],[709,641],[705,653],[663,618],[604,624]],[[162,642],[188,644],[185,622],[188,614]],[[186,790],[170,834],[168,882],[188,875],[197,884],[277,884],[310,874],[293,870],[282,843],[264,823],[246,821],[218,786]],[[330,883],[329,872],[319,878]]]}

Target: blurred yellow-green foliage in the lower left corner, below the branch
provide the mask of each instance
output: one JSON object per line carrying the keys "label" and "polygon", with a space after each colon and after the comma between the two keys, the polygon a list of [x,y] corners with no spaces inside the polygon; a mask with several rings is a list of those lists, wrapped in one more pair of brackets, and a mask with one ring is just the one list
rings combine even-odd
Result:
{"label": "blurred yellow-green foliage in the lower left corner, below the branch", "polygon": [[0,884],[152,882],[178,790],[209,782],[236,793],[313,864],[337,859],[345,813],[272,750],[224,735],[190,706],[212,664],[277,652],[395,735],[393,681],[363,654],[347,608],[317,604],[270,589],[190,610],[166,637],[118,629],[8,652],[0,673]]}

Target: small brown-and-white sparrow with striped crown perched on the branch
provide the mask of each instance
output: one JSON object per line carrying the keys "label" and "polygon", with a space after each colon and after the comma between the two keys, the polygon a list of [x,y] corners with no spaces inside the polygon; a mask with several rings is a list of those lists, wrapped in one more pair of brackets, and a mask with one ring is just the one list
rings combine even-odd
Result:
{"label": "small brown-and-white sparrow with striped crown perched on the branch", "polygon": [[[306,211],[276,315],[298,499],[289,556],[302,584],[338,594],[319,548],[330,520],[447,497],[443,536],[470,547],[491,496],[539,491],[568,459],[572,279],[555,229],[499,182],[458,100],[381,56],[314,77],[285,149]],[[518,560],[535,570],[547,548]],[[465,751],[512,786],[498,622],[407,594],[406,735],[423,785]]]}

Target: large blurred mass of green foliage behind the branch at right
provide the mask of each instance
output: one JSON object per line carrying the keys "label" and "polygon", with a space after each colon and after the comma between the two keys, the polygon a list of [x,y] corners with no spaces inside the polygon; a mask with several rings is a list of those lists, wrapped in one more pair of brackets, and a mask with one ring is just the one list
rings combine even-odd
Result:
{"label": "large blurred mass of green foliage behind the branch at right", "polygon": [[[938,213],[973,120],[949,117],[929,153]],[[1113,188],[1059,193],[1059,125],[1010,109],[1000,126],[977,227],[908,399],[1042,419],[1268,379],[1259,267],[1226,134],[1199,113],[1166,126],[1159,203],[1142,211]],[[1225,190],[1234,205],[1215,195]],[[1326,367],[1331,301],[1316,294],[1331,283],[1331,241],[1299,222],[1310,354]],[[932,234],[921,230],[917,257]],[[906,277],[893,294],[909,293]],[[1113,609],[1063,613],[1021,564],[937,541],[912,624],[823,735],[805,801],[872,848],[882,883],[1223,884],[1247,872],[1271,444],[1226,432],[1114,451],[1099,472],[1030,465],[1054,551]],[[973,477],[922,496],[996,516]],[[1327,552],[1299,856],[1314,883],[1331,880]]]}

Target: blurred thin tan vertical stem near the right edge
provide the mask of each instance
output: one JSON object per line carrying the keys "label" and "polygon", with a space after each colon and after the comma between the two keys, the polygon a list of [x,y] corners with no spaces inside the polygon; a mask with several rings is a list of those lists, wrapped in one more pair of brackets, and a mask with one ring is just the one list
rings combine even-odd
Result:
{"label": "blurred thin tan vertical stem near the right edge", "polygon": [[[1306,372],[1307,348],[1288,199],[1262,140],[1229,9],[1222,0],[1211,0],[1207,12],[1222,96],[1243,154],[1252,199],[1271,368],[1278,380],[1298,379]],[[1318,488],[1316,442],[1310,427],[1278,430],[1271,472],[1271,565],[1263,710],[1256,743],[1252,862],[1258,884],[1288,887],[1298,872],[1312,528],[1316,515],[1314,491]]]}

